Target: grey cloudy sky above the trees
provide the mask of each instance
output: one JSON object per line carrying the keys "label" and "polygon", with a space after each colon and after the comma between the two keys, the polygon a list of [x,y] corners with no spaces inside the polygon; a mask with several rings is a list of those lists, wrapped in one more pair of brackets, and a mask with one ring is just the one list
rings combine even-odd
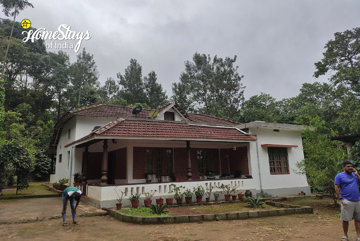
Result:
{"label": "grey cloudy sky above the trees", "polygon": [[[277,99],[299,94],[315,80],[314,63],[335,32],[360,27],[359,0],[29,0],[17,17],[31,26],[56,31],[89,31],[83,47],[94,55],[104,84],[117,80],[131,58],[143,76],[155,71],[172,95],[184,61],[195,52],[238,56],[245,98],[265,92]],[[1,17],[4,17],[3,14]],[[47,40],[63,44],[65,40]],[[71,42],[69,42],[71,43]],[[74,42],[72,42],[74,43]],[[49,51],[59,51],[53,45]],[[63,49],[76,60],[74,49]]]}

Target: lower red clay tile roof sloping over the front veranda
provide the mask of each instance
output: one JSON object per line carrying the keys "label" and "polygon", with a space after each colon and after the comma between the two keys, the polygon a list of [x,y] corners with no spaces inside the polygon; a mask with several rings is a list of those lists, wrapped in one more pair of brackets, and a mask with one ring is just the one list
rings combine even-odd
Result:
{"label": "lower red clay tile roof sloping over the front veranda", "polygon": [[196,124],[150,121],[150,120],[123,120],[118,119],[102,128],[92,132],[74,143],[86,140],[92,136],[107,137],[152,137],[167,138],[174,140],[212,139],[212,140],[237,140],[255,141],[256,138],[246,135],[235,128],[219,128],[215,126],[200,126]]}

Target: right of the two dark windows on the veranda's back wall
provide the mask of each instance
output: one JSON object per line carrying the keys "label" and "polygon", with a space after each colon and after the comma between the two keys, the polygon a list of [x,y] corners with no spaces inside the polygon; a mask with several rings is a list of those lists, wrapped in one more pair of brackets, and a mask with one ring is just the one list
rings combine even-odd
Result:
{"label": "right of the two dark windows on the veranda's back wall", "polygon": [[197,150],[197,170],[207,175],[209,172],[219,173],[219,152],[217,149]]}

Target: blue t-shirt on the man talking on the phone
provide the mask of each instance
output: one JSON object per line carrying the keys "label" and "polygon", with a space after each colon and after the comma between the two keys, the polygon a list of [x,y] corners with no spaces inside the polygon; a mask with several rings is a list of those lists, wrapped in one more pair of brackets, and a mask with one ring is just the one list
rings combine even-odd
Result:
{"label": "blue t-shirt on the man talking on the phone", "polygon": [[341,197],[349,201],[359,201],[359,179],[352,172],[350,174],[345,171],[335,176],[335,184],[340,186]]}

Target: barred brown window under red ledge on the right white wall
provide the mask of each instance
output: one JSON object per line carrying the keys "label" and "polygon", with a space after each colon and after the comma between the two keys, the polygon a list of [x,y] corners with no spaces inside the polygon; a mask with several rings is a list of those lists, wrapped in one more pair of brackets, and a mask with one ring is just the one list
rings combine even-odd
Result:
{"label": "barred brown window under red ledge on the right white wall", "polygon": [[290,174],[288,149],[268,147],[270,174]]}

